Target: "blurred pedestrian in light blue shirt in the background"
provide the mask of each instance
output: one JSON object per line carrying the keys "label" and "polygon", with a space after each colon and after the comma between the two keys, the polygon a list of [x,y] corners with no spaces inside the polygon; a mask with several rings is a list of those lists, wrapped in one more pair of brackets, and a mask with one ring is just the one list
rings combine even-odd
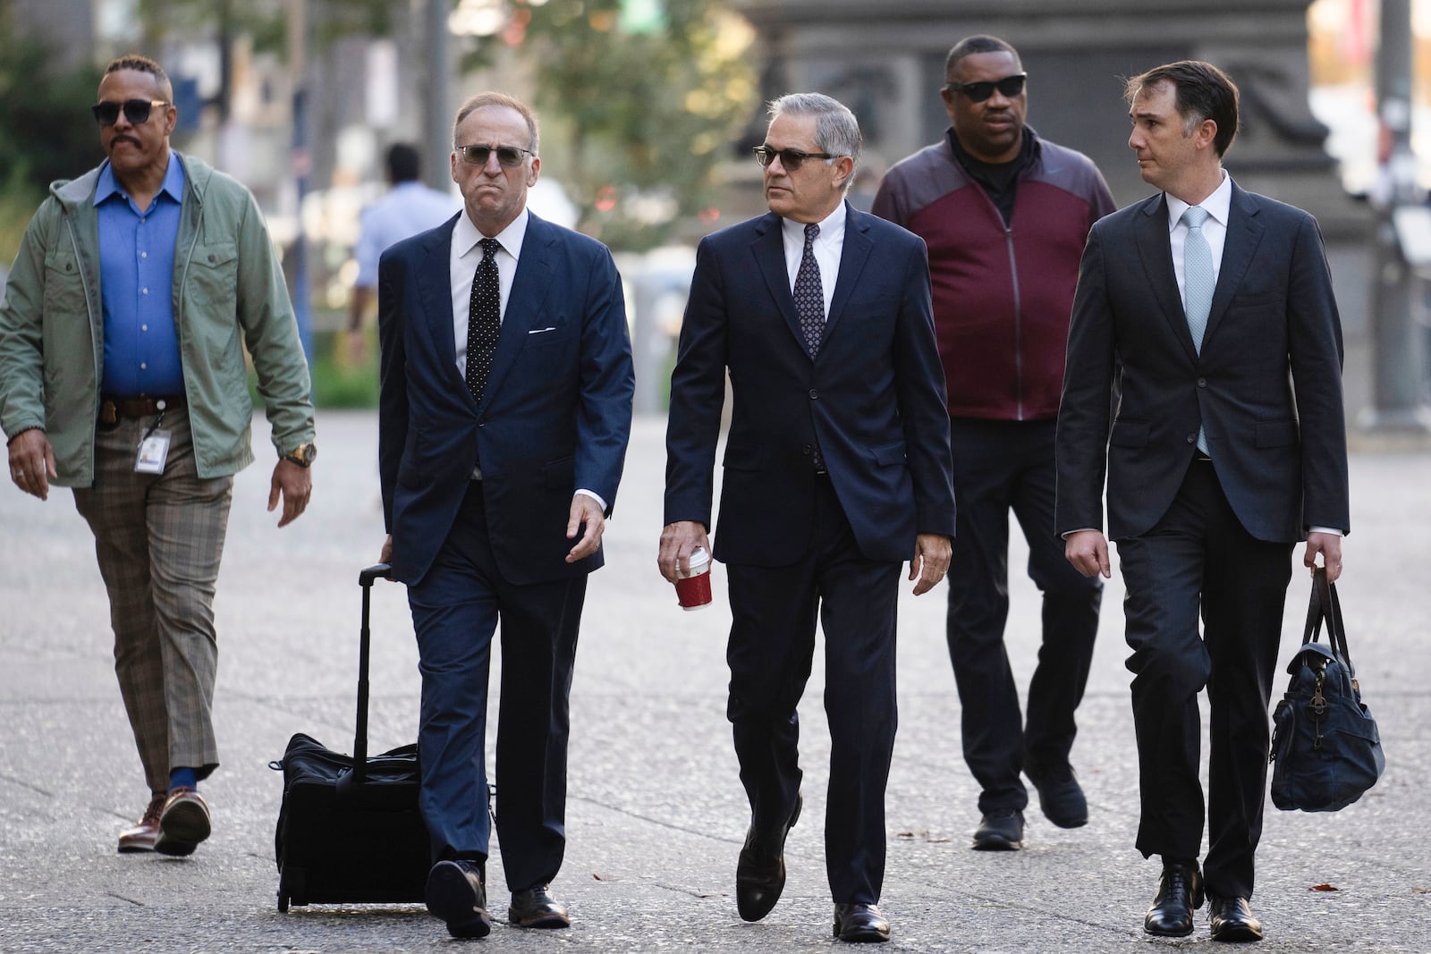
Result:
{"label": "blurred pedestrian in light blue shirt in the background", "polygon": [[391,189],[359,216],[358,277],[348,303],[348,356],[355,365],[368,358],[362,333],[362,319],[378,286],[378,256],[408,236],[435,229],[456,215],[461,203],[452,196],[422,185],[422,162],[418,150],[408,143],[394,143],[388,149],[388,182]]}

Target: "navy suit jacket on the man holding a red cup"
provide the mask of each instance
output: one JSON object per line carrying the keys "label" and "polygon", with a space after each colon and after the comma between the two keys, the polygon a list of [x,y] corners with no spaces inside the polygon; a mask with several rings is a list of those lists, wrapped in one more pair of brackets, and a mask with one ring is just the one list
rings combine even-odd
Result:
{"label": "navy suit jacket on the man holding a red cup", "polygon": [[906,561],[916,533],[954,535],[924,243],[849,203],[846,215],[814,359],[790,292],[780,216],[723,229],[697,249],[671,375],[665,522],[711,526],[728,369],[734,403],[714,542],[723,562],[783,566],[806,554],[817,443],[866,558]]}

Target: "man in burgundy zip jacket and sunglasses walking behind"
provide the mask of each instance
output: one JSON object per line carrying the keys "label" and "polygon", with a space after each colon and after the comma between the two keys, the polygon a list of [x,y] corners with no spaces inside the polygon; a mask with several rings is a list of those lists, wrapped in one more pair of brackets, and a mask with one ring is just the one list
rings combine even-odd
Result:
{"label": "man in burgundy zip jacket and sunglasses walking behind", "polygon": [[[947,638],[964,761],[980,787],[973,847],[1016,850],[1029,802],[1020,772],[1053,824],[1088,821],[1069,751],[1102,586],[1070,571],[1053,533],[1053,433],[1079,259],[1113,199],[1086,156],[1025,126],[1026,74],[1012,46],[967,37],[944,77],[953,126],[890,169],[873,210],[929,246],[959,493]],[[1010,509],[1043,592],[1026,724],[1003,645]]]}

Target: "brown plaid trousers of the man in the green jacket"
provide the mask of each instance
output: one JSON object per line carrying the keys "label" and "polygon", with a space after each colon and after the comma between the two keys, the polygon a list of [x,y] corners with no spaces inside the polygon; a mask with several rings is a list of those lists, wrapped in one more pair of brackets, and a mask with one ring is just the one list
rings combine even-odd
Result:
{"label": "brown plaid trousers of the man in the green jacket", "polygon": [[170,768],[193,768],[202,780],[219,765],[213,594],[233,478],[199,478],[183,409],[166,412],[160,425],[170,435],[165,472],[136,473],[153,421],[96,429],[94,482],[74,489],[74,506],[94,533],[114,674],[145,781],[157,794],[167,791]]}

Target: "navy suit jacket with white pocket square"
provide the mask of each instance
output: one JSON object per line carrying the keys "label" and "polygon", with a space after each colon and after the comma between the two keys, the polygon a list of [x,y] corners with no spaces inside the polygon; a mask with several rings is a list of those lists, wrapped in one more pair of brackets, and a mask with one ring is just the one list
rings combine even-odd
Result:
{"label": "navy suit jacket with white pocket square", "polygon": [[[465,213],[462,213],[465,215]],[[528,217],[482,403],[456,366],[448,259],[456,217],[388,249],[378,265],[382,340],[378,463],[392,575],[422,579],[482,469],[502,576],[587,574],[567,564],[572,493],[615,502],[631,433],[631,340],[611,253]]]}

